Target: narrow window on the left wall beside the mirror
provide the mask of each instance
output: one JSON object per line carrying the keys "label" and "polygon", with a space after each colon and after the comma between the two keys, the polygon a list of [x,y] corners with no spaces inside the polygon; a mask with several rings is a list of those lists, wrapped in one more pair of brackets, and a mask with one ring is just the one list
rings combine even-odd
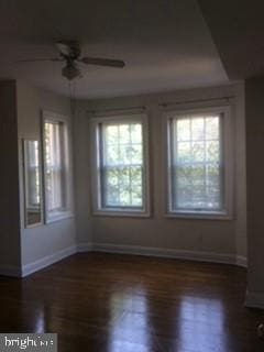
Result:
{"label": "narrow window on the left wall beside the mirror", "polygon": [[64,218],[69,211],[68,139],[66,123],[53,113],[45,113],[43,130],[45,213],[48,222]]}

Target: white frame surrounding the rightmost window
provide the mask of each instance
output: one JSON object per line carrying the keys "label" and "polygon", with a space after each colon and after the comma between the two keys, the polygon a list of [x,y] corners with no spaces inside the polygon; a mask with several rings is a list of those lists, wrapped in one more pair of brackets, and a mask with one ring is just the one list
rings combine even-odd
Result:
{"label": "white frame surrounding the rightmost window", "polygon": [[[207,211],[207,210],[175,210],[173,209],[173,189],[172,189],[172,141],[170,141],[170,122],[173,119],[184,118],[186,116],[217,113],[221,117],[221,143],[222,143],[222,157],[223,157],[223,210],[221,211]],[[188,218],[188,219],[216,219],[216,220],[231,220],[233,217],[233,128],[231,121],[231,107],[230,106],[212,106],[200,108],[184,108],[180,110],[173,109],[164,112],[165,135],[165,169],[166,169],[166,210],[167,218]]]}

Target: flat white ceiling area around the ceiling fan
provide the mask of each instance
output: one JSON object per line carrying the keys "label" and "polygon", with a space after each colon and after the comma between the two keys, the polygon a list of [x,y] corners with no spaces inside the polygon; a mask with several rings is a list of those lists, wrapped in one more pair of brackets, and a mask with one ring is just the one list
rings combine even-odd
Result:
{"label": "flat white ceiling area around the ceiling fan", "polygon": [[0,78],[26,79],[68,95],[54,42],[74,38],[87,56],[119,58],[122,69],[85,66],[78,98],[99,98],[228,81],[196,0],[0,0]]}

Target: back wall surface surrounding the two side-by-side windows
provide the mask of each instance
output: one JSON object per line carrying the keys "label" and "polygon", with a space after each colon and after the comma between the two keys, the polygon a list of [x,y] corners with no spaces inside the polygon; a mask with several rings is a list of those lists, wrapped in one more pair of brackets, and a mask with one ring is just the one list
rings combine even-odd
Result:
{"label": "back wall surface surrounding the two side-by-side windows", "polygon": [[[232,120],[234,125],[234,217],[223,220],[184,220],[164,217],[165,172],[163,169],[162,109],[158,103],[202,101],[233,97]],[[113,251],[150,251],[164,249],[205,258],[242,264],[246,257],[246,199],[245,199],[245,139],[244,139],[244,87],[242,84],[202,89],[164,92],[139,97],[124,97],[78,102],[74,120],[76,195],[78,212],[78,241],[90,242],[95,249]],[[205,101],[207,106],[211,102]],[[221,100],[219,100],[221,105]],[[196,103],[194,103],[195,106]],[[122,109],[145,106],[150,124],[152,217],[135,219],[122,217],[92,217],[90,209],[89,169],[89,114],[87,110]],[[92,238],[90,237],[92,233]],[[148,250],[147,250],[148,249]],[[165,253],[165,251],[163,253]],[[160,253],[156,251],[156,253]]]}

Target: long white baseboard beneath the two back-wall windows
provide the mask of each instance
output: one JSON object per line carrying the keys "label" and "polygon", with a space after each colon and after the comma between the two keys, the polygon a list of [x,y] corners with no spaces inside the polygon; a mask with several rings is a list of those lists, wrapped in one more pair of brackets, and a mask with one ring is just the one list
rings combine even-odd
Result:
{"label": "long white baseboard beneath the two back-wall windows", "polygon": [[110,244],[110,243],[94,243],[92,251],[172,257],[172,258],[182,258],[182,260],[200,261],[200,262],[238,264],[235,256],[231,254],[219,254],[213,252],[184,251],[184,250],[158,249],[158,248],[122,245],[122,244]]}

